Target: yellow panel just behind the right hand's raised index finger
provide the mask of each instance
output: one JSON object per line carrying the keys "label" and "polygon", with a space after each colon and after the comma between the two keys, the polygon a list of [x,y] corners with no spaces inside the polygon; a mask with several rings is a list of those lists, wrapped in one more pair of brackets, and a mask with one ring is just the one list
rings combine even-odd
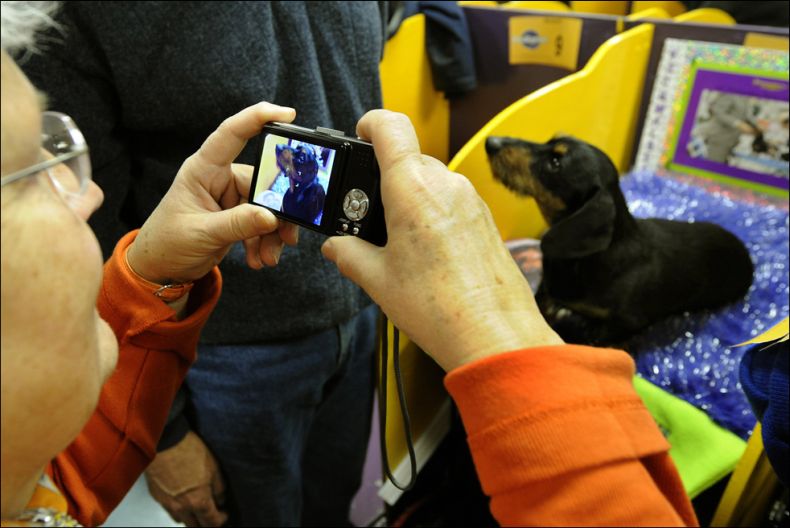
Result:
{"label": "yellow panel just behind the right hand's raised index finger", "polygon": [[425,15],[403,21],[384,47],[379,65],[384,108],[409,116],[422,152],[447,162],[450,145],[450,105],[433,86],[425,51]]}

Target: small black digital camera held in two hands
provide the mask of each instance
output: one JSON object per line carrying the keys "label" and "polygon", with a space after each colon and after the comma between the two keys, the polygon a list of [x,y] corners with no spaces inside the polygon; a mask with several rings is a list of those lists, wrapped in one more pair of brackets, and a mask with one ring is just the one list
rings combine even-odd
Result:
{"label": "small black digital camera held in two hands", "polygon": [[338,130],[266,124],[250,203],[325,235],[387,243],[373,145]]}

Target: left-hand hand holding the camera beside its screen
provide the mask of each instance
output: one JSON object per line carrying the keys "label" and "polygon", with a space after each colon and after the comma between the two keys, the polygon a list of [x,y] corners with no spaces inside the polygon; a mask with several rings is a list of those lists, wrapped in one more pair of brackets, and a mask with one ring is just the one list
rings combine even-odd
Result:
{"label": "left-hand hand holding the camera beside its screen", "polygon": [[129,248],[129,265],[151,282],[189,282],[206,275],[243,240],[251,268],[274,266],[297,227],[246,203],[252,167],[233,160],[269,121],[296,113],[259,103],[226,119],[178,171],[173,185]]}

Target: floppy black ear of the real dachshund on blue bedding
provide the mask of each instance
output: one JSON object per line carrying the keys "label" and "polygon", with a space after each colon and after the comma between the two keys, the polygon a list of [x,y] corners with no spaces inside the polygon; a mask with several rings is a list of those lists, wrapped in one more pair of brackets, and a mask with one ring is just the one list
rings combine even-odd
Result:
{"label": "floppy black ear of the real dachshund on blue bedding", "polygon": [[581,258],[603,251],[612,242],[614,200],[598,189],[581,209],[552,225],[541,240],[544,257]]}

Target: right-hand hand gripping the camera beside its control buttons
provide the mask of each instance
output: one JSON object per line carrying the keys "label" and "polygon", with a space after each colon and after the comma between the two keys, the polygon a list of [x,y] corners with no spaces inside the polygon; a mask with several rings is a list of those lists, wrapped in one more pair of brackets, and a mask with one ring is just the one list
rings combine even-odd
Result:
{"label": "right-hand hand gripping the camera beside its control buttons", "polygon": [[469,180],[422,155],[402,114],[368,112],[357,134],[381,167],[387,245],[332,237],[324,256],[445,370],[561,344]]}

